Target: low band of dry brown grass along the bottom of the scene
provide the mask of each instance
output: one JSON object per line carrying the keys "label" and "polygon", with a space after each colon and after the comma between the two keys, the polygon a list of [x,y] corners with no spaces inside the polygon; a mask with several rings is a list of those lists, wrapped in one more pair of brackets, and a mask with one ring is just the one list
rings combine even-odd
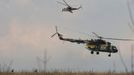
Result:
{"label": "low band of dry brown grass along the bottom of the scene", "polygon": [[[22,73],[0,73],[0,75],[131,75],[127,73],[91,73],[91,72],[80,72],[80,73],[72,73],[72,72],[47,72],[47,73],[30,73],[30,72],[22,72]],[[134,74],[132,74],[134,75]]]}

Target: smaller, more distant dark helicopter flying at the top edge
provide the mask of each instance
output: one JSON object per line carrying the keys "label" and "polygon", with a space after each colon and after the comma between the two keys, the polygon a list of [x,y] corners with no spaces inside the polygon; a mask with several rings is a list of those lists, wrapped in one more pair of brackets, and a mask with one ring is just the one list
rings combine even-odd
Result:
{"label": "smaller, more distant dark helicopter flying at the top edge", "polygon": [[78,7],[78,8],[73,8],[73,7],[71,7],[65,0],[63,0],[63,2],[64,2],[64,3],[57,1],[57,3],[62,4],[62,5],[64,5],[64,6],[67,6],[66,8],[63,8],[63,9],[62,9],[62,12],[64,11],[64,12],[73,13],[74,10],[79,10],[80,8],[82,8],[81,6]]}

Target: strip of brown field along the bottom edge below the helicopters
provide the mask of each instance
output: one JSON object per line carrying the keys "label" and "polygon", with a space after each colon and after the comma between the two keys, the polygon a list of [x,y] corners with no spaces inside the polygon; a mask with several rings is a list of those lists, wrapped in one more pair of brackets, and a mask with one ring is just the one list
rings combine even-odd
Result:
{"label": "strip of brown field along the bottom edge below the helicopters", "polygon": [[0,72],[0,75],[134,75],[113,72]]}

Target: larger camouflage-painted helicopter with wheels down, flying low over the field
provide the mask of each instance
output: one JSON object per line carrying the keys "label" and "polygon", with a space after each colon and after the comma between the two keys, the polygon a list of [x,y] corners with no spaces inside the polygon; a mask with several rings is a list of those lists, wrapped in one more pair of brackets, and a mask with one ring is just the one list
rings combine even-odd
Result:
{"label": "larger camouflage-painted helicopter with wheels down, flying low over the field", "polygon": [[63,38],[63,35],[60,34],[57,30],[57,26],[55,27],[56,33],[54,33],[52,37],[55,35],[58,35],[58,38],[63,41],[69,41],[72,43],[77,44],[86,44],[86,48],[91,51],[91,54],[94,54],[96,52],[97,55],[99,55],[99,52],[107,52],[109,53],[108,56],[111,56],[111,53],[117,53],[118,49],[115,45],[112,45],[111,42],[108,42],[103,39],[109,39],[109,40],[121,40],[121,41],[134,41],[133,39],[118,39],[118,38],[104,38],[102,36],[97,35],[95,32],[93,34],[98,39],[90,39],[90,40],[81,40],[81,39],[70,39],[70,38]]}

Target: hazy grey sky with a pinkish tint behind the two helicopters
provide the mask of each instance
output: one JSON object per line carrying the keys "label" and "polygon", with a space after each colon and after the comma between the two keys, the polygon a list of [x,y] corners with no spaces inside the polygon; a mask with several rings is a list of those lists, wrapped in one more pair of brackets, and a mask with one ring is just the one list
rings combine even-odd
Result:
{"label": "hazy grey sky with a pinkish tint behind the two helicopters", "polygon": [[[56,25],[59,32],[70,38],[95,38],[92,32],[96,32],[104,37],[133,39],[126,0],[66,0],[74,7],[82,5],[73,14],[62,12],[65,6],[56,1],[62,0],[0,0],[0,63],[13,60],[16,70],[37,68],[36,58],[43,58],[46,49],[50,57],[48,69],[124,71],[117,53],[110,58],[108,53],[91,55],[83,44],[50,36],[55,33]],[[133,12],[134,2],[129,1]],[[121,49],[130,70],[133,42],[108,41]]]}

